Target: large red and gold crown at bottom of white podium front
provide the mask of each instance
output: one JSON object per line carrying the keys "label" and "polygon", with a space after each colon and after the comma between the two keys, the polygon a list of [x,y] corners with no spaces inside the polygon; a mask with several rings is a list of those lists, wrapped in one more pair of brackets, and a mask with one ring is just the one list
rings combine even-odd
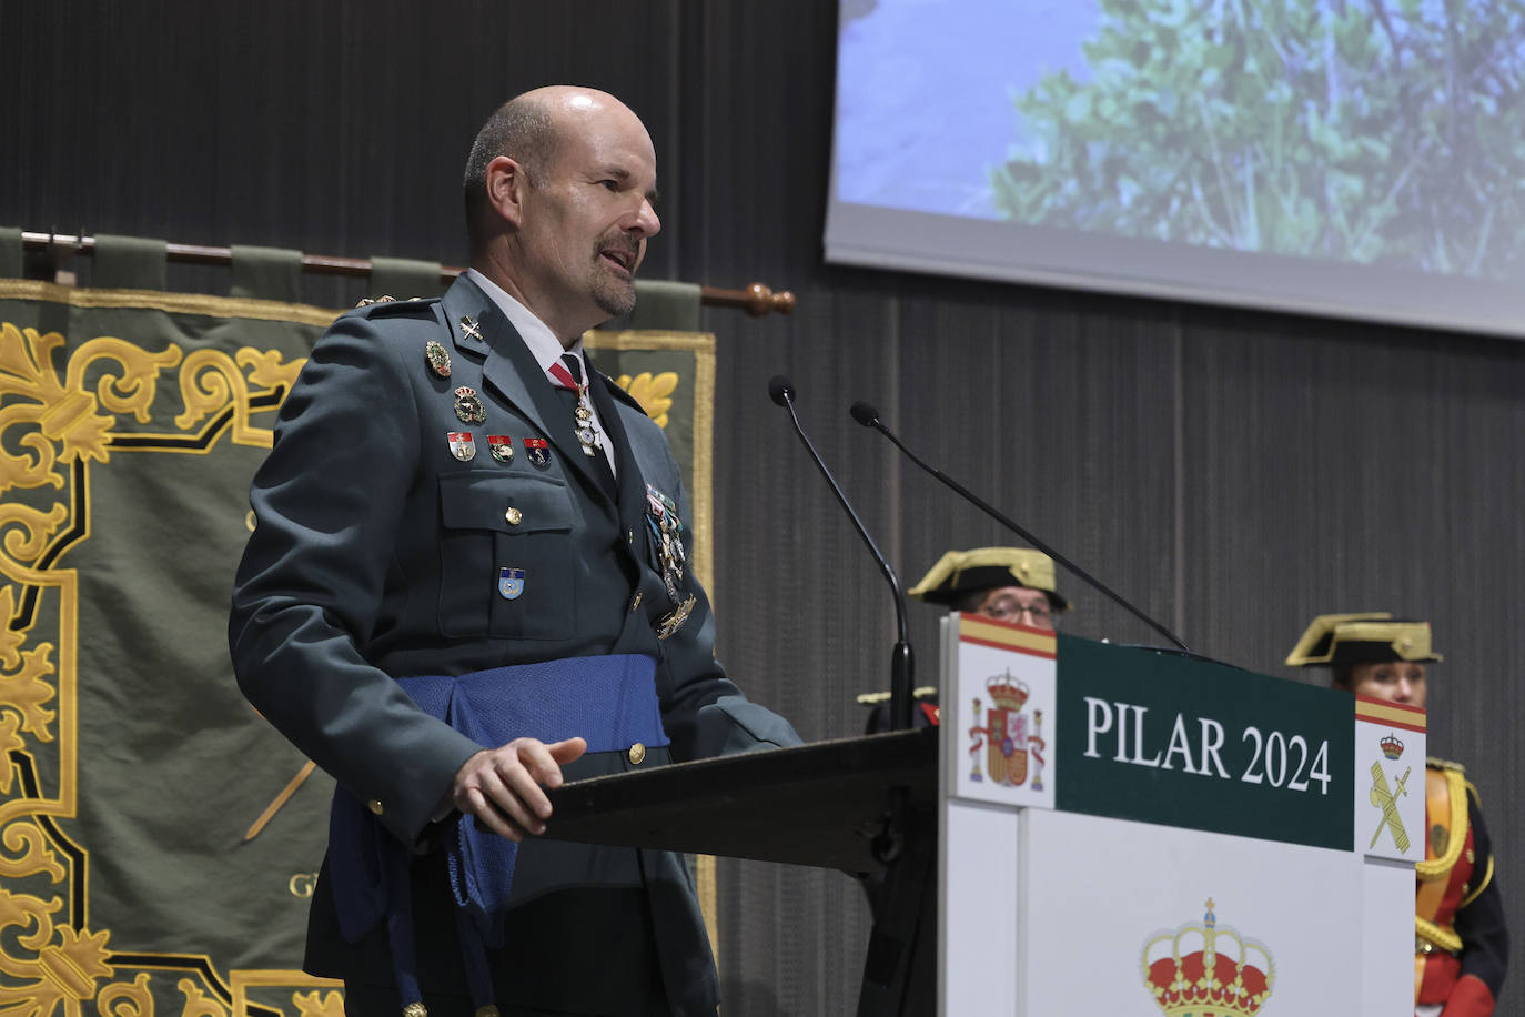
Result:
{"label": "large red and gold crown at bottom of white podium front", "polygon": [[[1228,926],[1220,929],[1212,907],[1209,898],[1200,926],[1154,933],[1144,944],[1144,987],[1165,1017],[1250,1017],[1270,999],[1270,951]],[[1260,967],[1249,962],[1250,953],[1260,954]]]}

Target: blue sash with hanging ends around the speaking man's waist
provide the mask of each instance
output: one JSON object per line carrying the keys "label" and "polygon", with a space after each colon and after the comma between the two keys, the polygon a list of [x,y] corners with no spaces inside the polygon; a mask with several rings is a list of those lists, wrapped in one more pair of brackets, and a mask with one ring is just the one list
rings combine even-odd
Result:
{"label": "blue sash with hanging ends around the speaking man's waist", "polygon": [[[483,749],[515,738],[544,743],[581,736],[589,752],[622,752],[634,743],[668,744],[656,695],[656,660],[640,654],[567,657],[461,677],[398,679],[419,709]],[[444,791],[444,788],[441,788]],[[467,974],[477,1006],[491,1002],[486,945],[503,938],[503,912],[518,845],[479,829],[456,813],[447,842],[450,886]],[[383,916],[403,1003],[421,999],[413,948],[409,851],[349,791],[334,791],[328,826],[328,875],[339,927],[354,942]]]}

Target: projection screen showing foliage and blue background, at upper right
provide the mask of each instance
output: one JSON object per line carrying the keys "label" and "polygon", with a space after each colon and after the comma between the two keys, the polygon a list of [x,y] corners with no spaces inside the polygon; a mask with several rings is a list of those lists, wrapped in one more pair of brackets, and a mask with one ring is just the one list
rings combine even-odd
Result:
{"label": "projection screen showing foliage and blue background, at upper right", "polygon": [[1525,335],[1519,0],[842,0],[827,259]]}

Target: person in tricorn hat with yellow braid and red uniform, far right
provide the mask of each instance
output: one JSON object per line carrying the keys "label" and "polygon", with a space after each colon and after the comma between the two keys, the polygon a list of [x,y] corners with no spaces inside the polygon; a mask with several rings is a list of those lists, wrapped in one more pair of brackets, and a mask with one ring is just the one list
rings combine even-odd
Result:
{"label": "person in tricorn hat with yellow braid and red uniform, far right", "polygon": [[[1321,614],[1287,656],[1295,668],[1330,668],[1330,685],[1423,709],[1429,622],[1388,613]],[[1461,764],[1427,759],[1424,861],[1417,869],[1414,999],[1421,1017],[1487,1017],[1508,965],[1504,903],[1478,790]]]}

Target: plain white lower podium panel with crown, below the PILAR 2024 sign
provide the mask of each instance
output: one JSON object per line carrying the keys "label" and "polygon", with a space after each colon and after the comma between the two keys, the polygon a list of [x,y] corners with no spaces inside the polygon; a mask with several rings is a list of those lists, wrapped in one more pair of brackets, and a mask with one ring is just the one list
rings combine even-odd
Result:
{"label": "plain white lower podium panel with crown, below the PILAR 2024 sign", "polygon": [[1357,855],[1039,810],[1019,826],[1026,956],[1002,1012],[1362,1012]]}

